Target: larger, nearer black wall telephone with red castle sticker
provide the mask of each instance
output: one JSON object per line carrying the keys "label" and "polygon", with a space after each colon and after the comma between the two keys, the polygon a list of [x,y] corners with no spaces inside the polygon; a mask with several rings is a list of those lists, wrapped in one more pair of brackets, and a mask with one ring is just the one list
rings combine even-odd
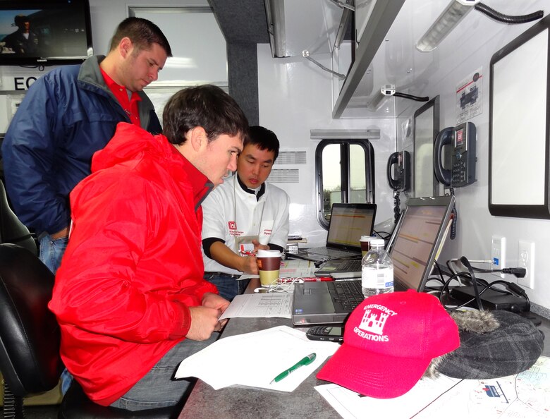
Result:
{"label": "larger, nearer black wall telephone with red castle sticker", "polygon": [[[476,129],[471,122],[444,128],[434,142],[434,174],[439,183],[452,188],[470,185],[475,178]],[[451,151],[451,169],[444,169],[441,152],[444,145]]]}

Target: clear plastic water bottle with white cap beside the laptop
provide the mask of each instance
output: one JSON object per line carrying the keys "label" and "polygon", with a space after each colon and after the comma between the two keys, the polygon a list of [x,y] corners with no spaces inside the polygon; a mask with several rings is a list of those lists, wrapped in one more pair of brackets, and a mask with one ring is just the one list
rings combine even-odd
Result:
{"label": "clear plastic water bottle with white cap beside the laptop", "polygon": [[393,292],[393,262],[384,250],[384,240],[374,238],[361,261],[361,288],[365,298]]}

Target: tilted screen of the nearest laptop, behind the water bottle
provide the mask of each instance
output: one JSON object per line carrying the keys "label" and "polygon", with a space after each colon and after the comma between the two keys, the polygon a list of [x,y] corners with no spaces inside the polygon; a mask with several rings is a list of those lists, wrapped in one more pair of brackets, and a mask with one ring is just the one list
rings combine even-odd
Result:
{"label": "tilted screen of the nearest laptop, behind the water bottle", "polygon": [[424,290],[447,235],[453,202],[453,196],[408,200],[389,249],[393,280],[405,289]]}

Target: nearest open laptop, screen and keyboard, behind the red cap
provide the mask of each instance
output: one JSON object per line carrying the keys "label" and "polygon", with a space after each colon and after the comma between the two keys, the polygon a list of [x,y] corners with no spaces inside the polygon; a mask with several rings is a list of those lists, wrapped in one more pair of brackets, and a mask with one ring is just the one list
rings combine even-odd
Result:
{"label": "nearest open laptop, screen and keyboard, behind the red cap", "polygon": [[[390,239],[395,291],[424,287],[451,221],[454,197],[410,198]],[[345,285],[341,285],[345,284]],[[355,305],[344,306],[340,288],[353,285]],[[295,325],[342,324],[363,299],[361,281],[305,282],[294,287]]]}

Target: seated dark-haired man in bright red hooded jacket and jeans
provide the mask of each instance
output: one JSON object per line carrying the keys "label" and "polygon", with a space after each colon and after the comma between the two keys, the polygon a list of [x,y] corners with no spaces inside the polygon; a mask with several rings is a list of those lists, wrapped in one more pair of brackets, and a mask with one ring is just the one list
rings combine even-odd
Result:
{"label": "seated dark-haired man in bright red hooded jacket and jeans", "polygon": [[178,363],[212,343],[228,301],[204,281],[202,200],[236,170],[248,124],[219,87],[176,93],[164,135],[119,123],[71,193],[73,225],[49,308],[61,357],[103,406],[175,405]]}

